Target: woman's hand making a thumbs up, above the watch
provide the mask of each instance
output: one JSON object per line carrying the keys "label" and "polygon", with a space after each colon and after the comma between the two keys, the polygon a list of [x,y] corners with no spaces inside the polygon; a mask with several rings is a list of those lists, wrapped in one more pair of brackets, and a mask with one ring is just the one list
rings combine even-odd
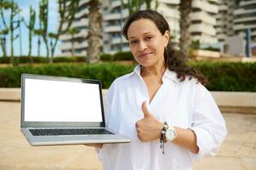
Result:
{"label": "woman's hand making a thumbs up, above the watch", "polygon": [[137,136],[141,142],[148,142],[151,140],[159,139],[163,122],[156,120],[154,116],[146,108],[146,102],[142,103],[142,111],[144,117],[135,123]]}

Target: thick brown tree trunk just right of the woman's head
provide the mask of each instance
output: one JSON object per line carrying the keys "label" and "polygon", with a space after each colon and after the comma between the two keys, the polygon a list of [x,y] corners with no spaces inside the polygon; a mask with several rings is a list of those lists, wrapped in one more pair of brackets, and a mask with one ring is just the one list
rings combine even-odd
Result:
{"label": "thick brown tree trunk just right of the woman's head", "polygon": [[179,40],[179,48],[180,52],[188,55],[190,43],[191,43],[191,3],[192,0],[180,0],[179,3],[179,12],[180,12],[180,20],[179,20],[179,28],[180,28],[180,40]]}

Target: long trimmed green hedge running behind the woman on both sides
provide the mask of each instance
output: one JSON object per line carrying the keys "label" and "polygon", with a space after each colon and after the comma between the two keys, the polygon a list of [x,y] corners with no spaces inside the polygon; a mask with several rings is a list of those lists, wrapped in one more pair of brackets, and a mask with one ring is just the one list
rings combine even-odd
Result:
{"label": "long trimmed green hedge running behind the woman on both sides", "polygon": [[[190,65],[208,78],[209,90],[256,92],[256,63],[195,62]],[[103,88],[109,88],[114,79],[133,69],[134,65],[114,63],[7,67],[0,68],[0,88],[20,87],[22,73],[99,79]]]}

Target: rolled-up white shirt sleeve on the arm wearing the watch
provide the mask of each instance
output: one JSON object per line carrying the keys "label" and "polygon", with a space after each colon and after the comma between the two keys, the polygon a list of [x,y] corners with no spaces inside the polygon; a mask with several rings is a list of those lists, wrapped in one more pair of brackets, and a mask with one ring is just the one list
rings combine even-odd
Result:
{"label": "rolled-up white shirt sleeve on the arm wearing the watch", "polygon": [[197,92],[191,115],[191,130],[196,133],[199,152],[190,152],[193,160],[216,155],[227,134],[225,120],[210,92],[203,86]]}

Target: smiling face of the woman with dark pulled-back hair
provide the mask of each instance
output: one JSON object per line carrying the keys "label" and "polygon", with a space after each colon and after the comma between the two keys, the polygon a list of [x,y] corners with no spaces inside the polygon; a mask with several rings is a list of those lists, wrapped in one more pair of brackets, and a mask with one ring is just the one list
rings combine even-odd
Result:
{"label": "smiling face of the woman with dark pulled-back hair", "polygon": [[168,31],[162,35],[153,21],[139,19],[131,23],[127,35],[131,52],[139,65],[164,65],[163,53],[168,45]]}

